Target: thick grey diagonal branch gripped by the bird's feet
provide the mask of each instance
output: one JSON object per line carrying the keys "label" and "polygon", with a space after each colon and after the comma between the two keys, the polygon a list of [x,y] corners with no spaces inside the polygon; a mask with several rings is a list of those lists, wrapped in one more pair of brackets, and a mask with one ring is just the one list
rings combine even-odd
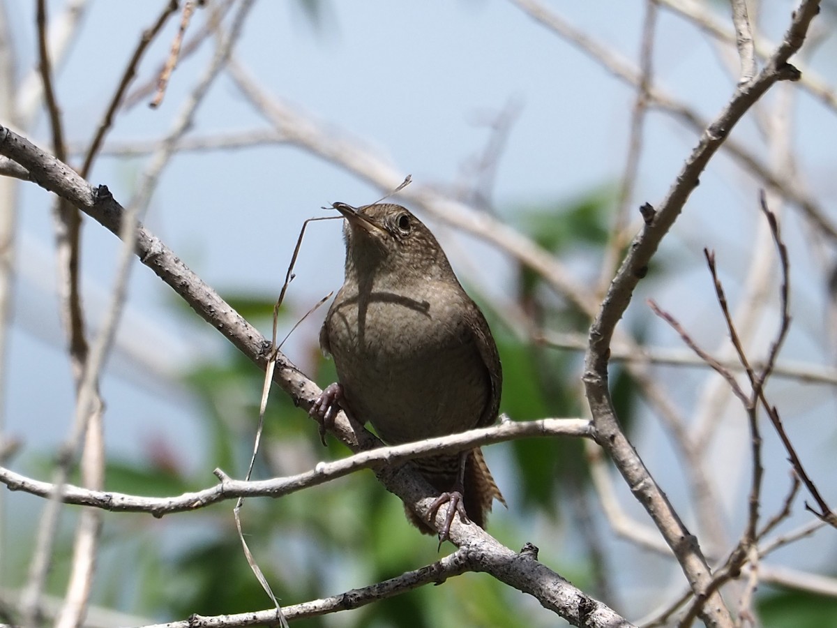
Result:
{"label": "thick grey diagonal branch gripped by the bird's feet", "polygon": [[[125,210],[104,186],[92,188],[72,168],[4,126],[0,126],[0,154],[26,167],[33,181],[73,203],[112,233],[121,233]],[[216,327],[259,368],[265,367],[271,356],[271,342],[189,270],[172,250],[142,226],[136,229],[134,246],[141,262],[171,286],[198,315]],[[283,353],[276,352],[274,355],[275,383],[290,394],[295,403],[310,408],[313,399],[321,392],[316,383],[301,373]],[[367,430],[359,427],[353,429],[343,413],[335,419],[334,432],[344,445],[354,451],[369,450],[380,445],[380,441]],[[435,519],[430,518],[436,493],[418,472],[409,466],[383,466],[377,471],[377,477],[389,492],[400,497],[419,517],[432,521],[436,529],[442,526],[445,513],[436,512]],[[545,608],[573,625],[602,628],[630,626],[614,610],[593,600],[528,553],[520,554],[506,548],[474,525],[465,525],[459,519],[454,519],[450,540],[460,548],[467,547],[467,551],[475,552],[479,570],[533,595]]]}

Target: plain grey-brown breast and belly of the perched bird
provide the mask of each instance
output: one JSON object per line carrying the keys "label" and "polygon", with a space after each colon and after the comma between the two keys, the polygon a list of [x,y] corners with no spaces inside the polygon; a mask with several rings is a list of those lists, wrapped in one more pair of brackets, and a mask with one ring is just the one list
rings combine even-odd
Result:
{"label": "plain grey-brown breast and belly of the perched bird", "polygon": [[490,383],[456,292],[341,291],[326,332],[347,404],[389,443],[477,425]]}

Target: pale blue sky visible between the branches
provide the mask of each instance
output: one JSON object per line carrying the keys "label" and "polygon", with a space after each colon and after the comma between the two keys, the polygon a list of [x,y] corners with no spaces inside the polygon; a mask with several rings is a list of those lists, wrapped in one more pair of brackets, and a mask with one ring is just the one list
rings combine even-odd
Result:
{"label": "pale blue sky visible between the branches", "polygon": [[[23,74],[33,62],[33,9],[29,3],[7,4]],[[140,28],[156,17],[159,4],[90,3],[80,38],[58,81],[70,140],[86,141],[90,136]],[[50,3],[54,12],[62,5]],[[644,3],[553,2],[551,6],[621,56],[637,58]],[[765,17],[774,39],[789,10],[788,4],[787,11]],[[203,15],[198,13],[195,19],[195,24],[202,23]],[[148,80],[166,56],[175,28],[170,23],[146,54],[141,81]],[[832,84],[837,82],[837,64],[828,60],[833,53],[834,42],[825,39],[814,58],[819,72]],[[157,111],[136,106],[119,116],[110,138],[150,140],[165,135],[210,54],[204,46],[193,58],[184,59],[172,75],[163,106]],[[463,178],[464,164],[480,154],[489,136],[475,120],[518,102],[520,116],[501,157],[494,197],[501,213],[512,220],[514,208],[521,204],[583,194],[613,183],[624,167],[633,91],[508,2],[331,2],[326,4],[320,28],[312,28],[295,3],[262,2],[249,16],[236,54],[271,93],[379,147],[403,174],[411,173],[414,181],[423,184],[468,183]],[[713,116],[732,94],[735,79],[727,74],[711,43],[665,10],[660,13],[655,65],[660,85],[702,116]],[[834,214],[837,186],[829,169],[834,163],[837,116],[805,95],[799,97],[799,106],[802,171]],[[203,135],[260,127],[267,124],[222,76],[198,112],[194,131]],[[30,134],[44,147],[48,146],[46,128],[42,116]],[[744,121],[734,136],[752,140],[754,126]],[[665,114],[650,114],[634,207],[660,201],[695,144],[694,131]],[[758,142],[751,145],[764,151]],[[106,183],[117,199],[125,201],[142,167],[142,160],[102,158],[91,182]],[[25,270],[18,281],[6,410],[8,430],[25,443],[25,459],[32,451],[53,448],[67,434],[72,391],[51,292],[50,198],[30,184],[21,184],[20,192],[18,255]],[[302,220],[321,214],[321,205],[336,200],[362,204],[379,195],[367,184],[293,147],[187,154],[167,168],[146,224],[218,290],[277,293]],[[698,334],[706,332],[711,339],[707,342],[716,342],[716,335],[709,334],[717,330],[716,308],[700,251],[703,246],[718,250],[732,288],[747,264],[747,244],[757,219],[757,185],[737,167],[730,167],[727,157],[719,156],[701,178],[700,188],[664,246],[676,254],[671,259],[682,265],[682,274],[654,295],[645,294],[640,286],[634,307],[644,307],[644,298],[654,296],[686,324],[695,326]],[[470,240],[457,239],[437,224],[431,227],[449,247],[466,243],[464,251],[451,255],[454,266],[457,256],[469,259]],[[823,304],[819,285],[812,279],[816,275],[809,252],[795,220],[788,219],[787,233],[798,275],[797,327],[788,342],[788,355],[828,363],[827,347],[819,342],[816,331]],[[102,307],[110,287],[118,244],[90,220],[84,238],[89,315],[96,320],[95,311]],[[297,263],[298,278],[290,298],[300,304],[314,302],[338,287],[342,255],[338,224],[313,225]],[[501,256],[491,256],[485,265],[481,260],[480,264],[470,261],[469,273],[480,267],[486,270],[485,275],[476,273],[474,281],[490,285],[492,293],[511,290],[506,284],[509,265]],[[213,353],[224,346],[223,338],[212,330],[200,332],[198,326],[188,326],[182,317],[174,316],[172,300],[167,286],[136,265],[121,347],[127,347],[131,338],[136,351],[150,349],[162,366],[173,368],[190,354]],[[316,333],[317,316],[297,334],[310,338]],[[678,345],[662,326],[655,330],[655,337],[661,343]],[[290,357],[299,359],[292,347]],[[187,399],[159,382],[136,386],[136,373],[123,377],[137,370],[124,359],[112,366],[116,374],[104,383],[110,455],[137,456],[138,443],[160,435],[197,437],[200,418]],[[681,388],[675,382],[674,394],[689,399],[693,381],[684,378]],[[822,388],[806,387],[803,395],[791,394],[798,389],[798,385],[783,384],[780,390],[788,393],[788,411],[804,415],[812,429],[824,435],[827,450],[811,454],[819,461],[814,465],[821,465],[834,448],[834,399]],[[300,420],[306,420],[301,412]],[[659,430],[647,437],[650,442],[665,442]],[[646,461],[665,469],[672,462],[666,451],[666,447],[655,447]],[[199,443],[182,453],[190,466],[205,462]],[[211,482],[208,475],[207,483]],[[675,485],[675,494],[677,490]]]}

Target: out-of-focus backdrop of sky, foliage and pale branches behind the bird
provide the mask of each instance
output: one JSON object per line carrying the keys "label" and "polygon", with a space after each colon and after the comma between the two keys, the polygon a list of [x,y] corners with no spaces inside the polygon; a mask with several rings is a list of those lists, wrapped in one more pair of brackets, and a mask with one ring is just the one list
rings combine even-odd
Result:
{"label": "out-of-focus backdrop of sky, foliage and pale branches behind the bird", "polygon": [[[143,30],[166,5],[47,3],[55,90],[74,165]],[[411,174],[406,192],[415,198],[408,203],[407,195],[405,203],[434,230],[494,330],[505,374],[502,410],[512,420],[584,415],[579,347],[588,312],[496,242],[462,226],[483,213],[508,224],[555,255],[579,290],[600,298],[639,230],[639,205],[664,198],[703,126],[735,90],[734,44],[712,28],[733,33],[727,3],[257,2],[182,143],[159,177],[149,178],[219,45],[208,26],[213,15],[223,15],[227,32],[242,6],[197,8],[184,36],[185,44],[198,41],[197,48],[184,45],[162,106],[151,109],[180,13],[167,21],[139,64],[90,182],[106,184],[123,204],[150,194],[146,227],[269,335],[302,222],[326,215],[322,206],[334,201],[371,203]],[[3,124],[49,151],[35,3],[0,8],[0,55],[8,60],[0,91],[7,91],[12,107],[3,111]],[[551,26],[537,21],[541,10],[554,18],[544,18]],[[773,49],[792,10],[793,3],[779,0],[752,3],[759,46]],[[703,347],[731,357],[703,258],[707,247],[716,252],[752,358],[763,358],[778,325],[780,280],[759,210],[758,191],[766,188],[788,245],[793,314],[768,394],[831,502],[837,502],[831,482],[835,240],[822,221],[837,224],[835,17],[834,3],[823,3],[804,53],[793,59],[805,68],[804,83],[771,90],[711,162],[621,323],[652,358],[686,359],[680,338],[646,305],[653,298]],[[644,43],[650,70],[642,60]],[[638,107],[643,76],[653,88]],[[143,92],[143,85],[151,90]],[[9,179],[3,186],[0,211],[15,224],[0,434],[18,445],[3,465],[49,480],[74,409],[56,293],[54,198],[31,183]],[[422,193],[435,199],[433,207],[419,202]],[[112,234],[85,219],[81,273],[91,334],[107,311],[119,248]],[[342,260],[341,224],[311,224],[280,313],[281,335],[340,286]],[[321,385],[334,377],[317,345],[325,311],[307,317],[284,346]],[[614,357],[620,358],[618,351]],[[101,383],[105,486],[165,496],[211,486],[215,467],[243,476],[261,380],[257,368],[136,264]],[[611,383],[639,455],[701,547],[722,561],[747,517],[752,465],[741,405],[700,364],[652,362],[631,371],[617,359]],[[662,391],[674,418],[661,416],[650,390]],[[767,519],[788,496],[790,467],[766,423],[763,437]],[[692,466],[684,454],[691,446],[698,460]],[[581,443],[521,440],[485,453],[509,502],[490,520],[490,533],[502,543],[535,543],[543,562],[631,620],[660,616],[686,592],[678,565],[660,543],[642,541],[655,531],[621,478],[607,471],[604,483],[591,481]],[[316,425],[274,391],[256,476],[306,471],[346,454],[333,440],[322,448]],[[695,496],[694,473],[711,488],[706,501]],[[609,502],[606,486],[614,492]],[[759,564],[750,606],[757,625],[837,623],[834,530],[813,530],[805,499],[801,492],[789,516],[763,539],[766,545],[812,528]],[[44,500],[5,490],[0,500],[0,599],[11,608],[27,581]],[[162,520],[108,514],[90,625],[269,607],[241,552],[232,506]],[[626,517],[621,528],[613,508]],[[47,602],[64,596],[78,514],[77,507],[62,511]],[[368,473],[276,501],[249,500],[243,521],[283,604],[335,595],[439,558],[436,543],[408,525],[401,503]],[[732,600],[745,584],[736,586]],[[468,574],[300,625],[554,622],[537,601],[487,575]]]}

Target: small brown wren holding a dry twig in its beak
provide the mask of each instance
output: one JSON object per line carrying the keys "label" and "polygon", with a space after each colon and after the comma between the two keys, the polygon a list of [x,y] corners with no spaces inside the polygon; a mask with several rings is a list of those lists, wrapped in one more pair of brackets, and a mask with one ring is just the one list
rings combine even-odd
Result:
{"label": "small brown wren holding a dry twig in its beak", "polygon": [[[372,423],[390,445],[494,423],[502,383],[497,346],[434,235],[400,205],[334,208],[346,219],[346,277],[320,332],[339,378],[311,408],[321,435],[340,408]],[[478,447],[413,464],[441,492],[432,514],[449,504],[440,542],[454,513],[482,528],[491,502],[506,504]]]}

